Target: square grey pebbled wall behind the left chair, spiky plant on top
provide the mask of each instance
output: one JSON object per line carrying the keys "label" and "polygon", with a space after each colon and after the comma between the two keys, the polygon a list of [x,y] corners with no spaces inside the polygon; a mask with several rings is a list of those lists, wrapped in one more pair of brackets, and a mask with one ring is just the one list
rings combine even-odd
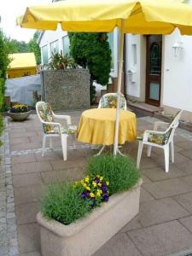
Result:
{"label": "square grey pebbled wall behind the left chair, spiky plant on top", "polygon": [[42,96],[55,110],[90,108],[90,73],[87,69],[44,70]]}

